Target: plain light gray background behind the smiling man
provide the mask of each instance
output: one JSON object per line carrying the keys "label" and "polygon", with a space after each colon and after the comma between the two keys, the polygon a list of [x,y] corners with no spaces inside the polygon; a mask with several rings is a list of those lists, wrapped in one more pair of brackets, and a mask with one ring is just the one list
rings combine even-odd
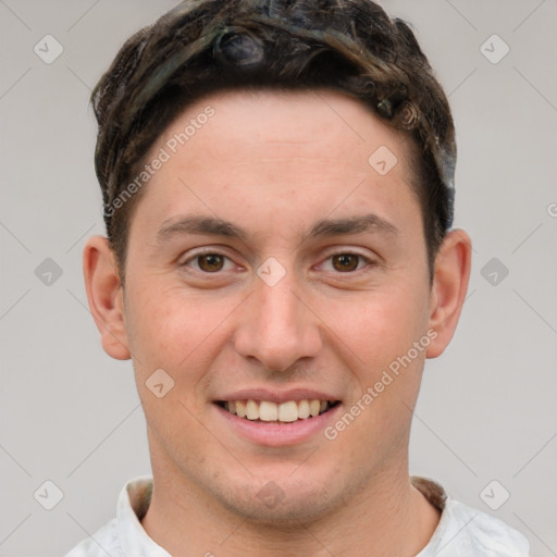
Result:
{"label": "plain light gray background behind the smiling man", "polygon": [[[103,233],[88,97],[124,39],[174,3],[0,1],[4,557],[63,554],[114,515],[128,479],[150,470],[131,363],[102,351],[83,285],[85,238]],[[521,530],[534,556],[555,556],[557,4],[383,4],[413,24],[450,97],[456,224],[474,245],[456,338],[426,364],[411,472]],[[47,34],[64,49],[51,64],[34,51]],[[494,34],[510,48],[498,63],[484,55],[503,52],[498,39],[485,44]],[[60,277],[45,275],[47,258]],[[63,492],[50,511],[34,497],[47,480]],[[504,490],[509,499],[492,510],[485,502],[497,506]],[[48,493],[37,499],[52,504]]]}

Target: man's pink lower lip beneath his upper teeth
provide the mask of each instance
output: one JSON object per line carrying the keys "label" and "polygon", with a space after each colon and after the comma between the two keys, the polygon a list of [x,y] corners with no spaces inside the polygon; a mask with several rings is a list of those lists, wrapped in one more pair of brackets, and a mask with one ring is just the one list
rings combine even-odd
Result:
{"label": "man's pink lower lip beneath his upper teeth", "polygon": [[314,418],[307,418],[289,423],[259,422],[238,418],[235,413],[231,413],[219,405],[214,405],[220,416],[239,435],[257,443],[258,445],[267,445],[270,447],[284,447],[288,445],[298,445],[311,440],[315,435],[322,434],[327,423],[335,419],[341,410],[341,404],[331,408],[324,413]]}

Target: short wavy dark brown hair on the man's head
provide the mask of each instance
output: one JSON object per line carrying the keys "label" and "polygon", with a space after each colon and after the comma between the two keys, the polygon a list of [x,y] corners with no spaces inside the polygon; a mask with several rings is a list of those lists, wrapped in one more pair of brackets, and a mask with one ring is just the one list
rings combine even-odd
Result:
{"label": "short wavy dark brown hair on the man's head", "polygon": [[370,0],[185,0],[125,42],[91,96],[96,172],[122,278],[141,190],[124,203],[117,196],[187,106],[238,88],[338,90],[405,131],[433,270],[453,222],[455,129],[409,26]]}

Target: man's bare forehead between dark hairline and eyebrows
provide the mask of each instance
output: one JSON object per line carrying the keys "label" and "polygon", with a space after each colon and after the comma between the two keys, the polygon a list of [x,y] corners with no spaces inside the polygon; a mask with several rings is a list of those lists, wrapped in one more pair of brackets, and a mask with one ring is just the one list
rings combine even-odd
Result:
{"label": "man's bare forehead between dark hairline and eyebrows", "polygon": [[147,161],[162,151],[168,161],[145,191],[159,223],[193,206],[227,220],[256,211],[264,224],[277,213],[293,221],[313,208],[318,220],[413,199],[405,137],[331,90],[207,96],[174,120]]}

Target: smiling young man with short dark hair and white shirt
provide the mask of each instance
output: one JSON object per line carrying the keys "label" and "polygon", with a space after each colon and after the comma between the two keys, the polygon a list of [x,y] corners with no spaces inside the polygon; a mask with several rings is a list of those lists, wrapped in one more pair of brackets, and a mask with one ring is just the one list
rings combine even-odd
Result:
{"label": "smiling young man with short dark hair and white shirt", "polygon": [[471,250],[408,26],[368,0],[186,1],[94,106],[108,238],[87,294],[133,360],[153,478],[70,556],[527,556],[408,472]]}

